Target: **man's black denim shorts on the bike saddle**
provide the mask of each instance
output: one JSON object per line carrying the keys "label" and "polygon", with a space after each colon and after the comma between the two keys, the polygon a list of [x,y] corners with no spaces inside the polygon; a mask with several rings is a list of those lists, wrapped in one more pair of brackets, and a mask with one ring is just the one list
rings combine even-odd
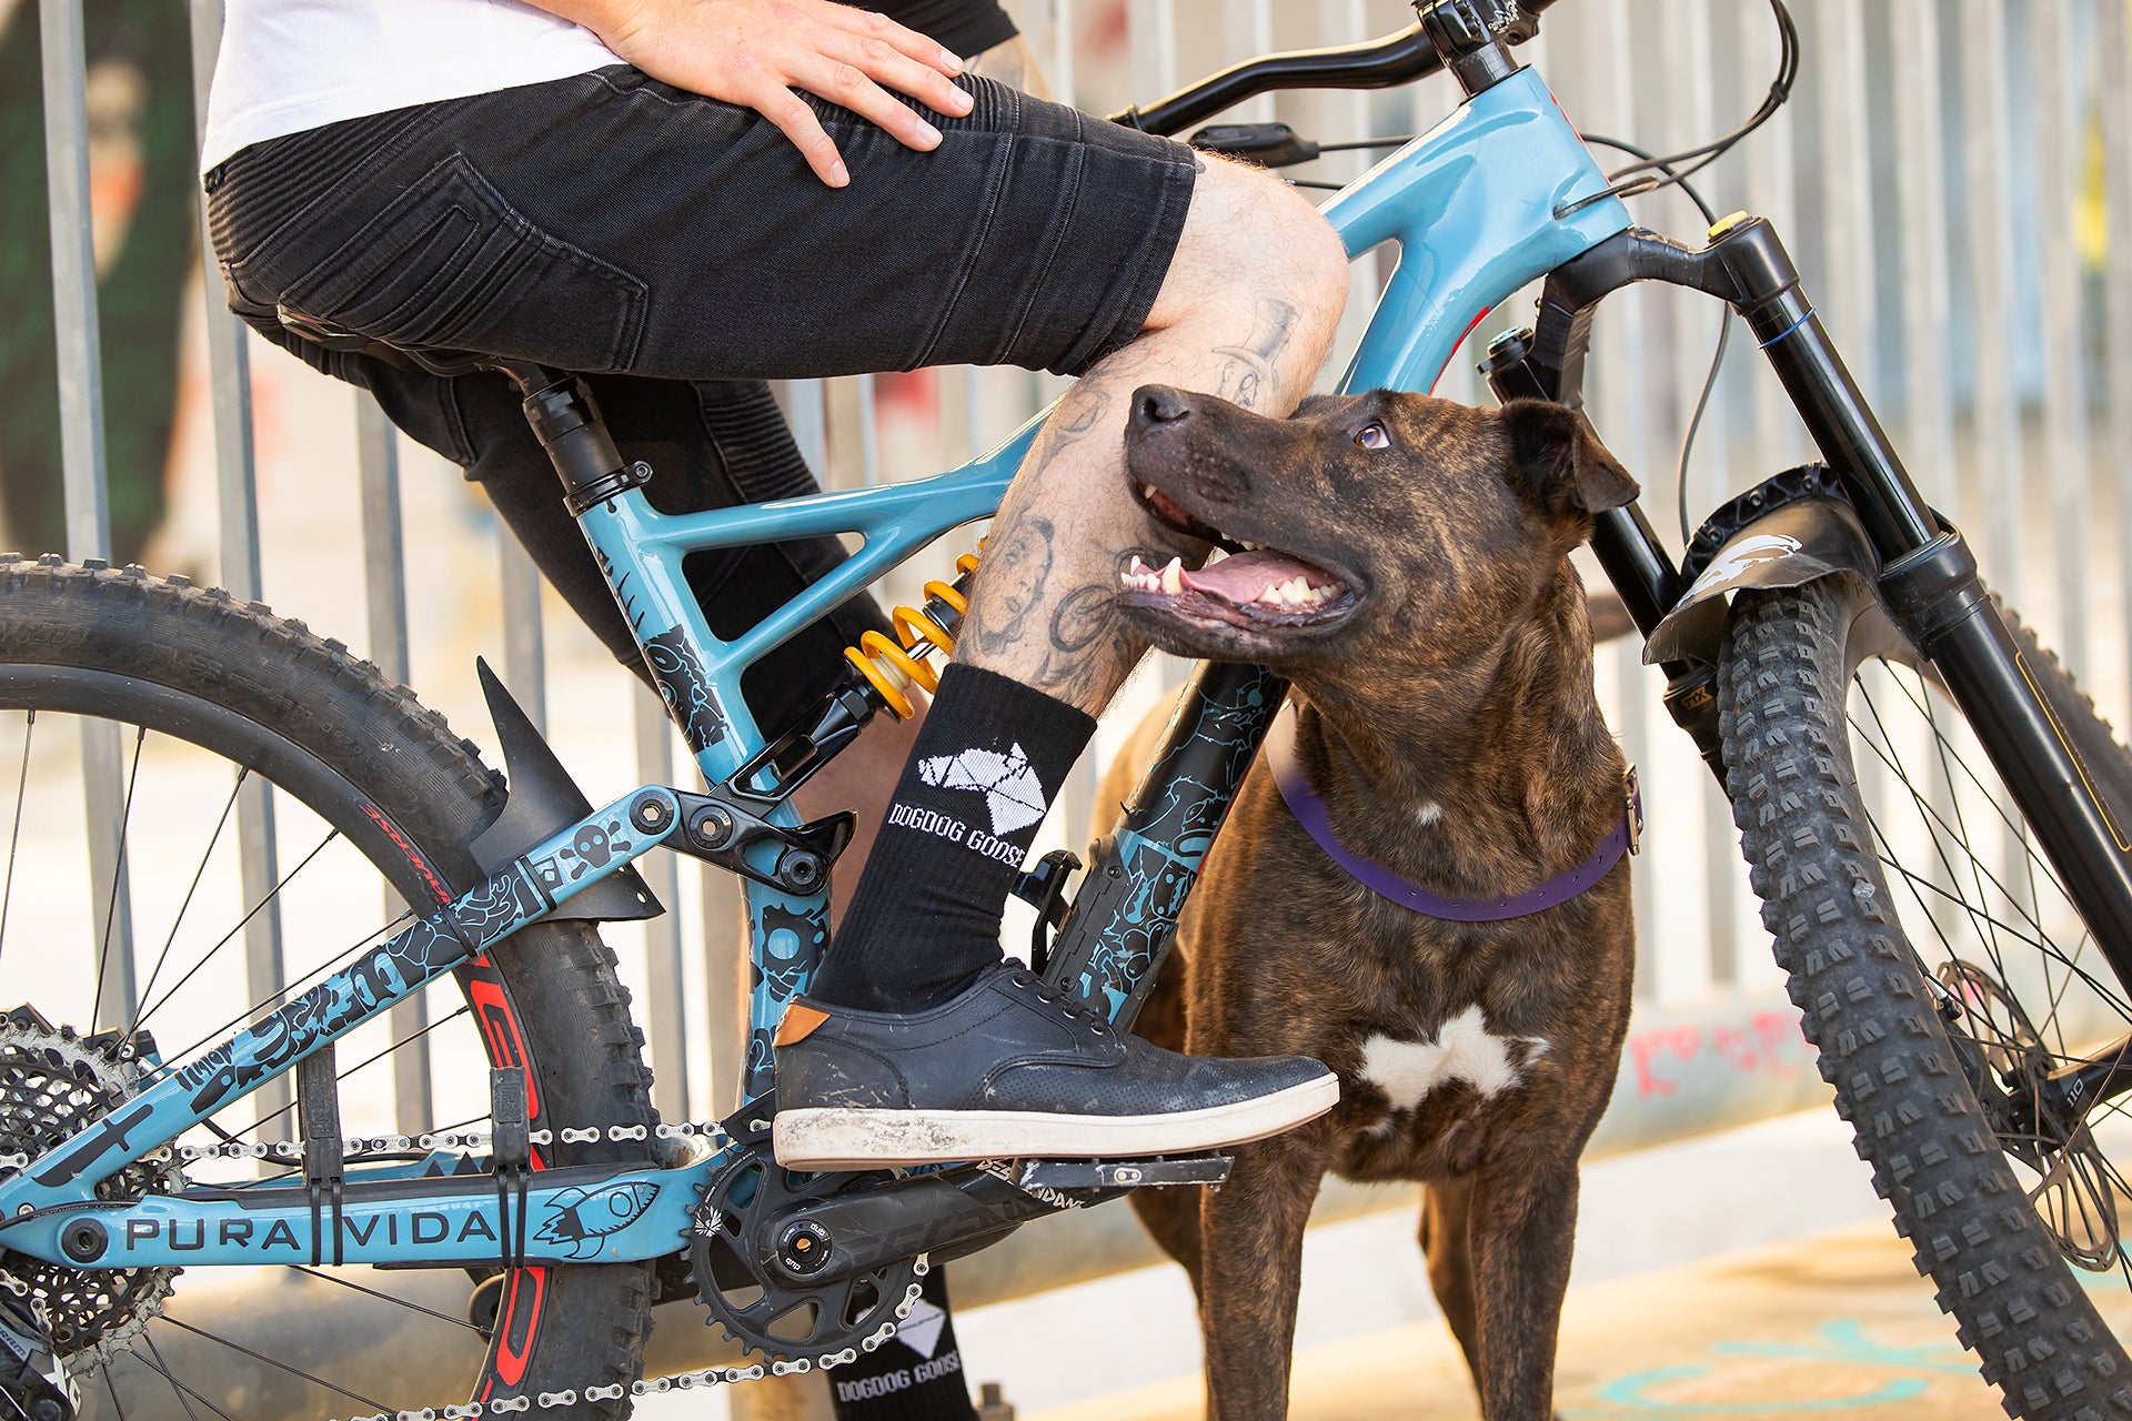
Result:
{"label": "man's black denim shorts on the bike saddle", "polygon": [[[252,145],[207,175],[230,307],[367,386],[467,467],[542,569],[635,648],[499,375],[433,379],[288,337],[277,303],[397,345],[593,375],[667,511],[789,496],[804,464],[759,381],[925,364],[1081,373],[1141,332],[1192,200],[1190,149],[983,79],[915,153],[814,102],[853,183],[736,109],[618,66]],[[753,626],[840,558],[834,539],[699,554],[714,631]],[[721,624],[723,622],[723,624]],[[759,667],[782,726],[881,614],[846,605]]]}

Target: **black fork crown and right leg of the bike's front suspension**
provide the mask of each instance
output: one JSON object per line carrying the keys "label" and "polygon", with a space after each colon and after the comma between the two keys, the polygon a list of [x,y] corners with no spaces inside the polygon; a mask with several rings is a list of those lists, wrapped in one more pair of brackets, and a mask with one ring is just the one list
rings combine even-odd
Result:
{"label": "black fork crown and right leg of the bike's front suspension", "polygon": [[[1776,230],[1761,217],[1727,219],[1712,228],[1703,249],[1629,230],[1558,268],[1541,294],[1533,349],[1539,381],[1552,381],[1550,396],[1580,403],[1590,311],[1631,281],[1684,285],[1725,300],[1746,320],[1857,509],[1880,560],[1868,571],[1889,616],[1947,682],[2117,980],[2132,986],[2132,827],[2102,801],[2066,733],[2072,707],[2055,707],[2042,695],[1961,530],[1919,496],[1821,326]],[[1635,530],[1627,533],[1627,541],[1637,543]],[[1631,552],[1671,567],[1663,550],[1635,545]],[[1635,577],[1635,569],[1629,571]],[[1644,601],[1665,599],[1665,588],[1650,579],[1644,592]],[[1637,597],[1625,597],[1637,611]],[[2109,1072],[2111,1087],[2128,1082],[2132,1072]]]}

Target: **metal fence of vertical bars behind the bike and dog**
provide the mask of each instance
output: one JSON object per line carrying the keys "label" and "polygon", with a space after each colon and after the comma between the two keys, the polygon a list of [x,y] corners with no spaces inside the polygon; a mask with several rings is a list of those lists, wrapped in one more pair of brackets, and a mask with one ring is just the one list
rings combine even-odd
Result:
{"label": "metal fence of vertical bars behind the bike and dog", "polygon": [[[1774,124],[1697,181],[1718,211],[1748,207],[1789,234],[1823,320],[1897,430],[1919,481],[1972,528],[1993,586],[2085,671],[2100,705],[2121,724],[2132,663],[2132,565],[2121,550],[2132,496],[2126,464],[2111,452],[2132,447],[2132,13],[2126,0],[1791,4],[1808,45],[1797,94]],[[30,9],[19,0],[21,13]],[[1394,0],[1025,0],[1011,9],[1034,38],[1053,89],[1094,113],[1266,47],[1345,43],[1411,21]],[[66,552],[83,558],[107,554],[111,530],[81,2],[36,0],[34,11],[43,26]],[[205,98],[222,2],[192,0],[190,13],[196,94]],[[1527,58],[1588,132],[1663,151],[1744,117],[1776,70],[1776,38],[1761,0],[1565,0],[1548,13]],[[1266,98],[1249,113],[1341,141],[1416,132],[1450,113],[1452,102],[1450,81],[1435,79],[1388,94]],[[1364,162],[1356,153],[1328,158],[1322,177],[1352,177]],[[1678,194],[1644,200],[1640,219],[1686,236],[1701,230],[1701,217]],[[1350,341],[1386,271],[1377,256],[1356,264]],[[203,275],[211,477],[183,488],[213,490],[217,579],[239,599],[305,609],[320,626],[354,639],[388,677],[420,684],[446,650],[469,650],[465,639],[446,648],[426,611],[429,571],[409,552],[403,513],[414,479],[443,475],[384,424],[367,396],[352,424],[275,426],[266,452],[254,390],[313,377],[256,347],[222,309],[211,262]],[[1522,324],[1527,309],[1520,296],[1482,322],[1439,394],[1480,398],[1469,356],[1501,328]],[[1716,320],[1708,305],[1682,294],[1633,290],[1610,300],[1597,326],[1593,415],[1642,477],[1661,526],[1680,492],[1674,452]],[[1750,356],[1735,341],[1697,437],[1686,469],[1691,518],[1806,456],[1782,392]],[[793,381],[782,398],[817,471],[829,486],[851,486],[947,467],[1006,435],[1057,388],[1019,371],[942,371]],[[286,409],[277,409],[279,420]],[[360,594],[345,582],[311,588],[294,577],[277,586],[273,577],[284,565],[275,539],[288,511],[269,496],[279,488],[277,469],[294,458],[290,450],[326,443],[356,450]],[[490,556],[484,539],[495,537],[492,526],[469,528],[454,535],[463,552]],[[887,597],[938,575],[951,552],[891,577]],[[469,635],[501,663],[535,722],[554,724],[591,695],[608,703],[629,697],[633,744],[614,778],[669,778],[684,761],[674,756],[657,703],[620,669],[601,669],[597,656],[569,660],[559,675],[565,628],[544,622],[529,560],[507,541],[492,556],[499,616],[475,622]],[[1646,1023],[1667,1012],[1708,1012],[1697,1003],[1712,991],[1735,1003],[1740,1020],[1757,1020],[1757,1003],[1774,997],[1778,980],[1729,814],[1684,737],[1667,724],[1659,684],[1635,650],[1603,648],[1601,660],[1610,720],[1644,767],[1652,805],[1652,839],[1637,876]],[[471,680],[463,663],[454,667],[452,675]],[[1170,684],[1173,667],[1138,677],[1104,724],[1098,763]],[[569,758],[574,748],[559,741]],[[100,895],[87,912],[98,925],[115,922],[113,954],[130,967],[128,878],[111,829],[122,795],[117,739],[90,733],[81,771]],[[1085,833],[1092,786],[1094,771],[1060,816],[1053,842]],[[275,882],[271,793],[247,790],[239,816],[254,897],[254,884]],[[663,863],[652,873],[655,891],[687,910],[612,937],[640,984],[657,1104],[669,1118],[701,1118],[723,1110],[736,1078],[733,895],[693,865]],[[273,905],[245,927],[256,997],[279,984],[281,933]],[[132,991],[130,969],[113,974],[100,1023],[128,1020]],[[416,1040],[424,1025],[420,1003],[409,1003],[394,1014],[392,1033]],[[1716,1027],[1697,1031],[1703,1042]],[[1637,1059],[1631,1050],[1622,1072],[1629,1099],[1652,1108],[1682,1099],[1678,1087],[1652,1084],[1654,1069],[1678,1069],[1695,1055],[1680,1048],[1682,1040],[1665,1038],[1671,1055],[1652,1048]],[[403,1055],[397,1101],[403,1114],[426,1116],[431,1080],[420,1042]],[[1721,1055],[1712,1048],[1710,1069],[1733,1069]],[[1765,1104],[1791,1099],[1772,1093]]]}

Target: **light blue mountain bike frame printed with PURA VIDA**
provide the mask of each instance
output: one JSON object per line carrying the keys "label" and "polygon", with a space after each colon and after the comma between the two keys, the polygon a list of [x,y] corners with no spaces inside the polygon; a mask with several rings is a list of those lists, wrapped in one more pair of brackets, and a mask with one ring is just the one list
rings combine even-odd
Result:
{"label": "light blue mountain bike frame printed with PURA VIDA", "polygon": [[[1597,196],[1603,192],[1605,177],[1531,68],[1386,158],[1324,209],[1352,256],[1388,241],[1401,249],[1341,388],[1433,388],[1458,341],[1497,303],[1629,226],[1627,209]],[[915,484],[689,516],[659,513],[629,490],[582,513],[584,535],[710,784],[731,780],[765,744],[740,699],[742,671],[942,533],[991,516],[1040,424],[1034,420],[953,473]],[[863,548],[746,635],[712,637],[689,594],[682,558],[823,533],[857,533]],[[789,805],[774,816],[797,827]],[[358,1165],[348,1170],[345,1202],[324,1214],[328,1223],[305,1189],[190,1189],[104,1204],[96,1185],[661,846],[678,820],[674,790],[640,788],[220,1046],[158,1065],[151,1082],[98,1127],[0,1182],[0,1246],[75,1268],[448,1268],[495,1263],[505,1246],[531,1265],[672,1253],[695,1202],[691,1185],[723,1165],[727,1153],[687,1170],[539,1170],[520,1193],[499,1191],[488,1174],[452,1180],[407,1165]],[[580,829],[595,827],[603,831],[597,863],[576,848]],[[755,1099],[770,1087],[770,1033],[827,946],[829,908],[827,895],[797,897],[753,880],[746,901],[757,982],[742,1095]]]}

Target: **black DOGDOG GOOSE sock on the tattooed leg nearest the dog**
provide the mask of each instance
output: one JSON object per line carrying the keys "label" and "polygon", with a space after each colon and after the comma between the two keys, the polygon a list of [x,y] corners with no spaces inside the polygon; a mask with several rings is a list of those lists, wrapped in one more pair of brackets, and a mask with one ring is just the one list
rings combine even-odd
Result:
{"label": "black DOGDOG GOOSE sock on the tattooed leg nearest the dog", "polygon": [[1096,720],[976,667],[940,677],[808,995],[919,1012],[1000,961],[1000,914]]}

